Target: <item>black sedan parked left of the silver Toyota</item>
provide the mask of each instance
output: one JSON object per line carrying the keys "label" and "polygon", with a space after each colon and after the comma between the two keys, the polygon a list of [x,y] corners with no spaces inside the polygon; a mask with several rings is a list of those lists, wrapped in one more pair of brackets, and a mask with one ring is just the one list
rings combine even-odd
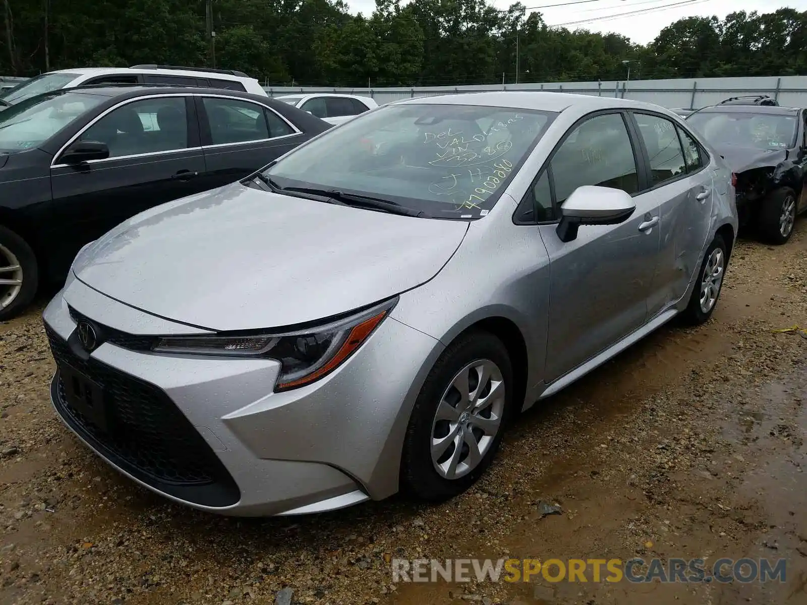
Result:
{"label": "black sedan parked left of the silver Toyota", "polygon": [[197,88],[87,86],[0,111],[0,319],[116,224],[245,177],[329,127],[271,98]]}

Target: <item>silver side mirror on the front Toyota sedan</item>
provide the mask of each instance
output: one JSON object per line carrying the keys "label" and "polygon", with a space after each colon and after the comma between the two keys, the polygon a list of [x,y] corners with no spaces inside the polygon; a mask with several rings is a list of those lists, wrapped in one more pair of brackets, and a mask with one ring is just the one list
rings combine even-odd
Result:
{"label": "silver side mirror on the front Toyota sedan", "polygon": [[628,219],[636,204],[625,191],[611,187],[583,185],[571,192],[560,209],[558,237],[574,240],[580,225],[616,225]]}

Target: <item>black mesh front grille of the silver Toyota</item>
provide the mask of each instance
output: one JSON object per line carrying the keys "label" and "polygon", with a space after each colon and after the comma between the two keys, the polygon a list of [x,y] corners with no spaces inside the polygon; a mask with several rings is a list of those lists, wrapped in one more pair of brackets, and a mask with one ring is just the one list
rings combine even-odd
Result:
{"label": "black mesh front grille of the silver Toyota", "polygon": [[240,492],[227,469],[167,394],[89,356],[74,352],[48,325],[56,365],[102,387],[106,428],[69,403],[61,373],[51,392],[62,418],[103,457],[155,489],[206,506],[228,506]]}

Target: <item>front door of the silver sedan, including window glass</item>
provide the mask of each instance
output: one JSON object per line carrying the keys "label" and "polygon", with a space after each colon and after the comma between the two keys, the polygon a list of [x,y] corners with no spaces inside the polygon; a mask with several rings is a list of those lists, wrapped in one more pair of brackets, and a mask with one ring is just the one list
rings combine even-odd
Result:
{"label": "front door of the silver sedan, including window glass", "polygon": [[618,225],[580,227],[570,242],[558,238],[555,224],[539,227],[550,256],[546,382],[594,357],[647,318],[659,253],[659,210],[654,196],[639,193],[640,151],[625,119],[621,113],[604,113],[572,127],[547,168],[552,207],[562,207],[579,186],[597,185],[633,195],[636,211]]}

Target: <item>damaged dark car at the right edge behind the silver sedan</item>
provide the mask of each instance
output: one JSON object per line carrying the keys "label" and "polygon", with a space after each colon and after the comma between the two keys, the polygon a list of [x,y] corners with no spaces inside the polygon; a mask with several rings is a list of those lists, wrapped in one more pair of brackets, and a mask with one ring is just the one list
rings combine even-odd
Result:
{"label": "damaged dark car at the right edge behind the silver sedan", "polygon": [[756,103],[721,103],[686,118],[730,166],[741,227],[771,244],[787,242],[807,210],[805,119],[804,109]]}

